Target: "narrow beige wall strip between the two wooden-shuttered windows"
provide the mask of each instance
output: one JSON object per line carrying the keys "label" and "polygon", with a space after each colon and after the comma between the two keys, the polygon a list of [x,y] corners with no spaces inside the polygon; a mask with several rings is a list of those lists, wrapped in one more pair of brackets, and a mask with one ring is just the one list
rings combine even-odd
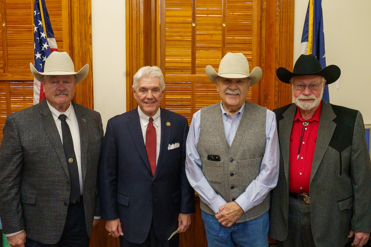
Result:
{"label": "narrow beige wall strip between the two wooden-shuttered windows", "polygon": [[104,130],[126,111],[125,1],[92,0],[94,110]]}

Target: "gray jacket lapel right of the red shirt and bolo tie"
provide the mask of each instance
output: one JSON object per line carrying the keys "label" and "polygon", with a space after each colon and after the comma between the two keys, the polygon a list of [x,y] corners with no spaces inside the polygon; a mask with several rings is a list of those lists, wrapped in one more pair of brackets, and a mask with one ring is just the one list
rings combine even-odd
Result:
{"label": "gray jacket lapel right of the red shirt and bolo tie", "polygon": [[331,105],[322,99],[321,117],[319,118],[317,141],[313,155],[311,180],[309,184],[312,183],[312,179],[317,171],[319,164],[321,163],[322,158],[324,157],[327,147],[331,141],[332,135],[334,134],[336,124],[332,120],[334,120],[335,118],[336,115],[334,113],[334,110],[332,110]]}

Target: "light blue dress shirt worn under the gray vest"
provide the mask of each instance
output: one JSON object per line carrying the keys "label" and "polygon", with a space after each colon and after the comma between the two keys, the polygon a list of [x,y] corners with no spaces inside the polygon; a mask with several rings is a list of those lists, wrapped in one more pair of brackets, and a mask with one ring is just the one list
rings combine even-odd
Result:
{"label": "light blue dress shirt worn under the gray vest", "polygon": [[[229,146],[233,142],[234,135],[240,124],[240,120],[245,108],[245,104],[233,115],[226,113],[220,102],[220,113],[223,117],[224,134],[226,135]],[[197,191],[200,199],[209,206],[214,213],[219,211],[219,207],[227,202],[217,194],[210,186],[202,172],[200,154],[197,151],[198,137],[200,136],[200,113],[201,110],[193,114],[190,130],[186,143],[185,173],[188,181],[194,190]],[[259,175],[253,180],[246,190],[235,200],[244,212],[260,204],[270,190],[277,185],[279,171],[279,146],[276,115],[267,109],[266,115],[266,144]]]}

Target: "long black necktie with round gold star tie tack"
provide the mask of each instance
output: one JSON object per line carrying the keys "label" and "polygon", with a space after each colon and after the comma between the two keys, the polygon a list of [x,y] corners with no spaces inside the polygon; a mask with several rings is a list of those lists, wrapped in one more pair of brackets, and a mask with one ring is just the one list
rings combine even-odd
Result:
{"label": "long black necktie with round gold star tie tack", "polygon": [[75,150],[73,149],[73,141],[71,131],[66,122],[66,115],[60,114],[58,119],[60,120],[60,126],[62,127],[62,139],[63,149],[65,150],[68,172],[70,176],[71,193],[70,202],[76,203],[81,196],[80,193],[80,180],[79,180],[79,169],[77,167]]}

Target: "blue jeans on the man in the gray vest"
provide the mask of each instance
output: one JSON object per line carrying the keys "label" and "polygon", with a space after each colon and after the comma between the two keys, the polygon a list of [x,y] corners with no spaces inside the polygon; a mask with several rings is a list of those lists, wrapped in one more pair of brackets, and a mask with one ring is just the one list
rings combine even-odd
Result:
{"label": "blue jeans on the man in the gray vest", "polygon": [[201,210],[208,247],[268,247],[268,211],[262,216],[230,227],[222,226],[215,215]]}

